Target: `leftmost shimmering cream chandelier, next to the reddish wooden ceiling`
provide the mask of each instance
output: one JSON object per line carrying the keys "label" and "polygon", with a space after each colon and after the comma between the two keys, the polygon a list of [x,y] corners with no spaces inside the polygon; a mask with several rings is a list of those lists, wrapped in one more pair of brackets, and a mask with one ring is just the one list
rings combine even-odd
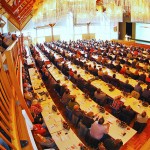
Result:
{"label": "leftmost shimmering cream chandelier, next to the reddish wooden ceiling", "polygon": [[68,12],[67,0],[45,0],[41,7],[34,13],[35,26],[55,24],[57,20]]}

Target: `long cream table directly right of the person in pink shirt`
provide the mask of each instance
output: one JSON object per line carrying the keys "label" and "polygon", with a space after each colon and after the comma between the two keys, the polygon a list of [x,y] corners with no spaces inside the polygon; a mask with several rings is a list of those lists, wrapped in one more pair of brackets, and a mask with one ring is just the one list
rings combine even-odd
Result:
{"label": "long cream table directly right of the person in pink shirt", "polygon": [[[131,127],[127,126],[126,128],[121,128],[118,125],[118,119],[112,116],[110,113],[105,111],[101,113],[99,106],[90,98],[86,98],[85,94],[73,86],[73,83],[70,80],[66,80],[65,76],[53,65],[49,64],[49,72],[55,80],[60,80],[60,84],[66,84],[70,90],[71,95],[76,96],[76,101],[79,103],[81,110],[85,112],[93,111],[94,114],[97,114],[100,117],[104,117],[105,123],[110,123],[109,135],[114,139],[121,139],[123,144],[125,144],[131,137],[136,134],[136,131]],[[116,132],[117,131],[117,132]],[[123,133],[126,133],[125,135]]]}

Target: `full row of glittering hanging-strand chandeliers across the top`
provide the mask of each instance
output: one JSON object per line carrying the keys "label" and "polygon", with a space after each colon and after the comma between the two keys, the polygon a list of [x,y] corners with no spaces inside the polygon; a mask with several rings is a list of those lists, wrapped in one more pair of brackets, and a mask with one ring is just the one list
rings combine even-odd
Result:
{"label": "full row of glittering hanging-strand chandeliers across the top", "polygon": [[[97,6],[100,6],[100,11]],[[104,17],[111,22],[122,22],[130,15],[132,22],[150,22],[150,0],[44,0],[34,13],[35,26],[55,24],[68,13],[74,23],[101,22]],[[100,19],[99,19],[100,18]]]}

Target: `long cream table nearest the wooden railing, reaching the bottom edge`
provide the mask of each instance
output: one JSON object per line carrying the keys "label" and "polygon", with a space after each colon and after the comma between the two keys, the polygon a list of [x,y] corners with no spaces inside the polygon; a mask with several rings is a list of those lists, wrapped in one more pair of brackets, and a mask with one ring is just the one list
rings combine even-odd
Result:
{"label": "long cream table nearest the wooden railing, reaching the bottom edge", "polygon": [[66,121],[59,110],[55,112],[52,109],[52,106],[55,104],[50,95],[40,95],[41,92],[47,92],[47,89],[44,86],[41,86],[41,83],[43,82],[41,78],[38,77],[39,74],[37,73],[37,69],[30,68],[29,75],[34,92],[38,94],[40,99],[43,99],[41,102],[42,116],[57,147],[61,150],[80,150],[80,145],[84,144],[71,128],[67,130],[63,127],[63,122]]}

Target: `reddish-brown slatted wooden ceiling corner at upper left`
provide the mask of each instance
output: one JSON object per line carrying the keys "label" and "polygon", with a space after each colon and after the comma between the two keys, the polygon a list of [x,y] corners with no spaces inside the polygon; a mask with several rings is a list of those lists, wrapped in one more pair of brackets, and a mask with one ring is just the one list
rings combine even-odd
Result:
{"label": "reddish-brown slatted wooden ceiling corner at upper left", "polygon": [[[97,4],[100,1],[97,0]],[[0,0],[0,14],[5,16],[18,30],[22,30],[42,2],[44,0]]]}

